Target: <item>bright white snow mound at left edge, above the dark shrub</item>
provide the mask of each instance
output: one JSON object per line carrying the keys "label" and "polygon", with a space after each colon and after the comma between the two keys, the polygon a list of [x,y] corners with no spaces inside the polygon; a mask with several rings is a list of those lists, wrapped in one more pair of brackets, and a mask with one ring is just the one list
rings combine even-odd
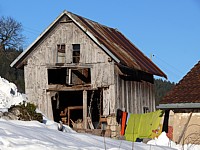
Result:
{"label": "bright white snow mound at left edge, above the dark shrub", "polygon": [[12,105],[17,105],[25,101],[24,95],[18,92],[14,83],[0,77],[0,109],[8,109]]}

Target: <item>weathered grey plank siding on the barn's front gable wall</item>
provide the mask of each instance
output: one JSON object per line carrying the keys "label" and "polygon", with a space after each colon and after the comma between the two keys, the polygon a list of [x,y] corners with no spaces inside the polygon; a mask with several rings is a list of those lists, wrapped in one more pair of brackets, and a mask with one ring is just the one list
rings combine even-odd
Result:
{"label": "weathered grey plank siding on the barn's front gable wall", "polygon": [[[114,103],[114,92],[109,86],[114,85],[114,63],[108,62],[109,56],[100,49],[73,22],[59,23],[37,44],[30,54],[25,72],[25,89],[28,99],[35,102],[41,111],[52,117],[50,93],[48,89],[47,66],[57,63],[57,44],[65,44],[65,63],[72,63],[72,44],[80,44],[80,64],[90,64],[91,84],[94,88],[108,87],[105,94],[110,103]],[[109,94],[108,94],[109,93]],[[109,97],[112,97],[110,99]],[[114,105],[111,106],[112,110]]]}

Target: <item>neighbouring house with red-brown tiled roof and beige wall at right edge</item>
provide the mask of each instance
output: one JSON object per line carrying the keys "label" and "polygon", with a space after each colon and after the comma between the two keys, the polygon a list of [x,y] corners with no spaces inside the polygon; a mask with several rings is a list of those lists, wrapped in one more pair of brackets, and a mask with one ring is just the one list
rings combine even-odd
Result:
{"label": "neighbouring house with red-brown tiled roof and beige wall at right edge", "polygon": [[160,101],[159,109],[173,110],[169,125],[173,140],[200,144],[200,61]]}

